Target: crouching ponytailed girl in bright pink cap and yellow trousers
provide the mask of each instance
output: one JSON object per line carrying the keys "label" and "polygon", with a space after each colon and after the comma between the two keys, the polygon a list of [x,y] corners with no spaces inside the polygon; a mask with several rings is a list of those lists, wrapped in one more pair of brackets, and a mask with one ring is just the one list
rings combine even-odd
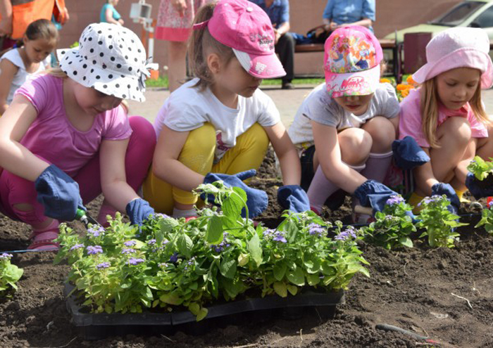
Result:
{"label": "crouching ponytailed girl in bright pink cap and yellow trousers", "polygon": [[258,89],[263,78],[285,75],[274,52],[266,13],[246,0],[203,6],[196,15],[189,58],[196,78],[180,86],[161,108],[158,143],[144,198],[157,212],[194,217],[199,184],[218,179],[242,187],[249,217],[267,207],[267,195],[242,181],[255,174],[269,142],[280,160],[282,207],[309,209],[299,187],[299,158],[273,101]]}

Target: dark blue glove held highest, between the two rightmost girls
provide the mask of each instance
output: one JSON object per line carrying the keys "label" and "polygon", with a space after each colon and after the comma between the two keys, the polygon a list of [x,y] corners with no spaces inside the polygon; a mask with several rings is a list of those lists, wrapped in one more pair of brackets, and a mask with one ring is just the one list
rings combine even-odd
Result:
{"label": "dark blue glove held highest, between the two rightmost girls", "polygon": [[430,161],[430,157],[411,136],[406,136],[402,140],[394,140],[392,152],[397,167],[401,169],[413,169]]}

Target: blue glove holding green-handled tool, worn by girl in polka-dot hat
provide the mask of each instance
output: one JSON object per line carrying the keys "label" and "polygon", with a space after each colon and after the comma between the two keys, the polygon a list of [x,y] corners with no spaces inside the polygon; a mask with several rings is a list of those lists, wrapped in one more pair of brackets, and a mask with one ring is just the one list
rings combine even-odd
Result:
{"label": "blue glove holding green-handled tool, worn by girl in polka-dot hat", "polygon": [[44,206],[46,217],[72,221],[77,209],[86,210],[80,198],[79,184],[56,165],[44,169],[35,181],[35,188],[37,201]]}

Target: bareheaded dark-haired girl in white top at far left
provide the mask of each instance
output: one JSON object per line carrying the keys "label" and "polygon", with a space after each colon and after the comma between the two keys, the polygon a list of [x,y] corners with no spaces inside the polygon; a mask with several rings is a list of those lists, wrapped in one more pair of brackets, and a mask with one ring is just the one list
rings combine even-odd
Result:
{"label": "bareheaded dark-haired girl in white top at far left", "polygon": [[50,53],[58,42],[58,30],[49,20],[35,20],[27,26],[22,46],[0,58],[0,115],[12,103],[14,92],[32,75],[48,69]]}

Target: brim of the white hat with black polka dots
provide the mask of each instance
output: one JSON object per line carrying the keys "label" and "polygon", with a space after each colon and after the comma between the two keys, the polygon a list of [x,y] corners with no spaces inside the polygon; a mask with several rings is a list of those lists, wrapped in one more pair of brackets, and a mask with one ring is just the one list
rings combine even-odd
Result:
{"label": "brim of the white hat with black polka dots", "polygon": [[[108,69],[92,65],[79,54],[79,49],[58,49],[56,51],[61,70],[82,86],[94,88],[108,96],[116,96],[133,101],[146,101],[145,86],[140,86],[137,77],[121,75]],[[70,58],[70,59],[69,59]],[[72,62],[69,64],[68,62]],[[118,78],[115,78],[119,76]]]}

